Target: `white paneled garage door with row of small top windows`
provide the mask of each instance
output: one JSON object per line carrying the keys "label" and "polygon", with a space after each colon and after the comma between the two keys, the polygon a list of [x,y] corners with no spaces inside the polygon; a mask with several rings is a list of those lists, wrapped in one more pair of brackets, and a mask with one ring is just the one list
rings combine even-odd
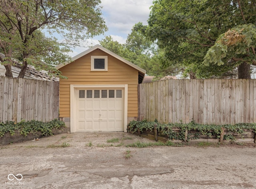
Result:
{"label": "white paneled garage door with row of small top windows", "polygon": [[124,131],[123,89],[77,89],[76,132]]}

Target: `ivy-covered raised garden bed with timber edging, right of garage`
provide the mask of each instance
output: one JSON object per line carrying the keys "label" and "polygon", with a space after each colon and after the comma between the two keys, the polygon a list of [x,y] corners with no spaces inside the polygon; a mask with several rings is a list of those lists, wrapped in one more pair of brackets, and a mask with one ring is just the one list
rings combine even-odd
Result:
{"label": "ivy-covered raised garden bed with timber edging, right of garage", "polygon": [[155,141],[172,142],[249,142],[256,143],[256,124],[201,125],[193,121],[188,124],[161,124],[157,121],[131,121],[128,132]]}

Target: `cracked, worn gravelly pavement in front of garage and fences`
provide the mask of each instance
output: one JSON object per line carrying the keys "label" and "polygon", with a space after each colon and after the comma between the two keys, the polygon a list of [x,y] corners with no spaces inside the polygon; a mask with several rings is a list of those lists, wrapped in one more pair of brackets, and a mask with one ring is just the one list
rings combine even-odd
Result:
{"label": "cracked, worn gravelly pavement in front of garage and fences", "polygon": [[137,141],[153,142],[123,132],[64,133],[0,146],[0,188],[256,188],[255,145],[126,147]]}

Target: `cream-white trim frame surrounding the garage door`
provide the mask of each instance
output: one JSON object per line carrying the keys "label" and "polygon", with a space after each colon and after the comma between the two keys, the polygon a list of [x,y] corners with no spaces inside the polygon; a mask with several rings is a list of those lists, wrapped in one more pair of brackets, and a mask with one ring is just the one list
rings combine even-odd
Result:
{"label": "cream-white trim frame surrounding the garage door", "polygon": [[70,85],[70,133],[76,132],[76,90],[79,88],[123,88],[124,89],[124,132],[127,132],[128,84],[124,85]]}

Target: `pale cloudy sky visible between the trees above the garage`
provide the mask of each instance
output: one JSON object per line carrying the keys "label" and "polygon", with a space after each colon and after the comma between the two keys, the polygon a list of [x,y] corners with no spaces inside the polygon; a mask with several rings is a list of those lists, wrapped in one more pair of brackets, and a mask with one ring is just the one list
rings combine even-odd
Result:
{"label": "pale cloudy sky visible between the trees above the garage", "polygon": [[[102,18],[106,22],[108,31],[104,35],[95,36],[88,40],[90,46],[99,44],[99,40],[111,36],[114,41],[124,44],[128,34],[138,22],[147,25],[150,6],[153,0],[101,0]],[[71,57],[85,51],[86,48],[77,47],[70,52]]]}

